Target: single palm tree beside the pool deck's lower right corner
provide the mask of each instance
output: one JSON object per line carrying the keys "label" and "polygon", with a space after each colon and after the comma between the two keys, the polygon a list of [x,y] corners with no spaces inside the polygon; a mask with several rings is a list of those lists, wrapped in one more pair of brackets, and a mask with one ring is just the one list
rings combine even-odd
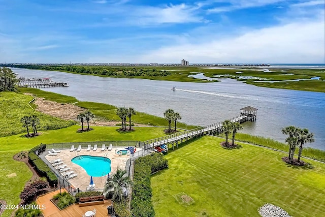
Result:
{"label": "single palm tree beside the pool deck's lower right corner", "polygon": [[116,173],[110,176],[110,178],[106,181],[104,187],[104,195],[108,195],[113,193],[112,199],[117,199],[121,201],[123,197],[123,190],[129,189],[131,187],[132,181],[130,177],[126,174],[125,170],[117,168]]}

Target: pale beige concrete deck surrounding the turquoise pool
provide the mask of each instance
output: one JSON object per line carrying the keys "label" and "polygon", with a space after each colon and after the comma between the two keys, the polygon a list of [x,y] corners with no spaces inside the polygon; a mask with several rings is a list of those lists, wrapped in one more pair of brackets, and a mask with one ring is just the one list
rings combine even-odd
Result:
{"label": "pale beige concrete deck surrounding the turquoise pool", "polygon": [[[57,153],[56,156],[51,156],[47,154],[45,158],[51,162],[56,159],[61,159],[63,164],[66,164],[66,167],[69,167],[69,171],[74,171],[77,174],[76,177],[69,179],[69,182],[73,185],[74,188],[79,188],[82,191],[86,191],[86,188],[89,187],[90,176],[87,174],[86,170],[81,166],[72,163],[71,160],[75,157],[88,155],[88,156],[96,156],[96,157],[107,157],[111,160],[111,172],[110,175],[114,174],[117,168],[125,169],[126,162],[131,158],[131,156],[124,154],[119,155],[115,153],[117,150],[122,150],[126,147],[113,147],[112,150],[104,150],[102,151],[101,147],[98,147],[96,151],[90,150],[87,151],[86,148],[81,149],[80,151],[70,151],[70,149],[61,150],[61,152]],[[138,148],[137,148],[138,149]],[[141,149],[141,148],[139,148]],[[137,150],[138,151],[138,150]],[[62,164],[62,165],[63,165]],[[105,182],[107,180],[107,175],[102,177],[93,177],[93,182],[95,184],[95,189],[103,189]]]}

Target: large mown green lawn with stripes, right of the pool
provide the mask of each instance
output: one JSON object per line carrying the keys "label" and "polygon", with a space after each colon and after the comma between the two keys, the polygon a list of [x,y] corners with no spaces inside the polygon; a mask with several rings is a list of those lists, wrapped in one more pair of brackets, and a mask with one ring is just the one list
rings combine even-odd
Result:
{"label": "large mown green lawn with stripes, right of the pool", "polygon": [[[294,168],[281,161],[284,153],[244,144],[226,150],[220,141],[205,136],[167,154],[169,169],[151,178],[157,217],[259,216],[265,203],[295,217],[324,216],[325,164]],[[179,195],[194,202],[181,204]]]}

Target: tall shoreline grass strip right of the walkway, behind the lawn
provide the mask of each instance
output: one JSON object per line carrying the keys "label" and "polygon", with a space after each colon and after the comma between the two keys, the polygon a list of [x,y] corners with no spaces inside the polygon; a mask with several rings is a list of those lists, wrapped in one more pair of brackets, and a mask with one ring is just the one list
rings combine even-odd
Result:
{"label": "tall shoreline grass strip right of the walkway, behind the lawn", "polygon": [[[223,134],[220,134],[219,136],[224,137]],[[232,137],[232,135],[230,135],[230,138],[231,137]],[[264,147],[268,147],[268,148],[274,148],[274,149],[281,150],[281,151],[287,152],[289,150],[289,145],[287,145],[283,142],[279,142],[274,139],[265,138],[262,136],[253,136],[253,135],[249,135],[249,134],[237,133],[235,139],[237,141],[248,142],[251,144],[260,145],[260,146],[264,146]],[[298,154],[298,151],[299,151],[299,148],[296,148],[295,153]],[[325,151],[323,151],[323,150],[306,147],[303,149],[302,156],[311,158],[311,159],[314,159],[317,161],[325,162]]]}

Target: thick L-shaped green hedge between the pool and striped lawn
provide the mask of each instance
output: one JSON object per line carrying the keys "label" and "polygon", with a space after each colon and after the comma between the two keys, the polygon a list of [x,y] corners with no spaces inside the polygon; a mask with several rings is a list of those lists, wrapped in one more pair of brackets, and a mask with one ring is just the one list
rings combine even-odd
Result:
{"label": "thick L-shaped green hedge between the pool and striped lawn", "polygon": [[134,187],[131,201],[131,211],[134,216],[154,216],[151,203],[150,175],[165,168],[168,168],[168,161],[162,153],[152,153],[135,161]]}

